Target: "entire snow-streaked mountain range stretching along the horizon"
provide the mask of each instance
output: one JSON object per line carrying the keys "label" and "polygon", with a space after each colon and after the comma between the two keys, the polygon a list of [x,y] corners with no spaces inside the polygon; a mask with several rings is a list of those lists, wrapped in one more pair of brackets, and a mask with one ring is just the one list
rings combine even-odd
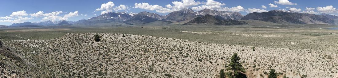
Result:
{"label": "entire snow-streaked mountain range stretching along the horizon", "polygon": [[[237,21],[239,20],[239,21]],[[203,9],[194,11],[192,9],[182,9],[169,13],[168,15],[159,15],[147,11],[139,13],[130,12],[107,12],[88,20],[79,21],[45,21],[39,23],[14,23],[14,26],[123,26],[123,25],[164,25],[164,24],[208,24],[208,25],[238,25],[246,24],[240,20],[259,20],[278,24],[335,24],[338,17],[328,14],[307,14],[294,12],[291,10],[271,10],[268,12],[252,12],[243,16],[239,12],[219,11],[213,9]]]}

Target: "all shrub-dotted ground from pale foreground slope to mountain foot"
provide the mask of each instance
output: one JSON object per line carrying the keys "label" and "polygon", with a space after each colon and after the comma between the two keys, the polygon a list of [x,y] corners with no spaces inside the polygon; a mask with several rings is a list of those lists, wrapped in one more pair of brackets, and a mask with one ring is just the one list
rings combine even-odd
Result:
{"label": "all shrub-dotted ground from pale foreground slope to mountain foot", "polygon": [[[271,68],[291,78],[331,78],[338,71],[338,31],[324,29],[331,27],[335,26],[1,29],[6,45],[1,51],[17,55],[2,53],[0,61],[8,71],[17,68],[9,76],[19,77],[214,78],[230,56],[239,53],[249,78],[267,77],[264,72]],[[94,42],[94,34],[102,40]]]}

